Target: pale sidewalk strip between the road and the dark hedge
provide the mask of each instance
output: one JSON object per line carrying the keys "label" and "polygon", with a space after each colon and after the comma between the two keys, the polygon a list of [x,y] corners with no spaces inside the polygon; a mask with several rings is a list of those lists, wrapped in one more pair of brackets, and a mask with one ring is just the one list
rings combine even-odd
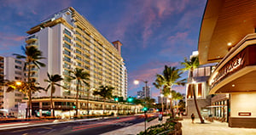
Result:
{"label": "pale sidewalk strip between the road and the dark hedge", "polygon": [[[169,116],[164,116],[162,122],[166,122],[167,118],[169,118]],[[157,124],[160,124],[158,118],[154,119],[154,121],[147,122],[146,126],[148,128]],[[132,125],[130,127],[120,128],[112,132],[105,132],[102,135],[136,135],[137,133],[142,131],[144,131],[144,122]]]}

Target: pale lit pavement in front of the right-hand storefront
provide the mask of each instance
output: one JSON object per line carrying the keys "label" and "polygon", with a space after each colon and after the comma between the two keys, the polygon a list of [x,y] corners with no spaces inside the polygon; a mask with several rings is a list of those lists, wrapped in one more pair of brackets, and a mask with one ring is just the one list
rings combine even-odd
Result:
{"label": "pale lit pavement in front of the right-hand storefront", "polygon": [[209,122],[201,124],[199,119],[195,119],[195,124],[191,119],[184,118],[182,122],[183,135],[256,135],[256,129],[252,128],[231,128],[227,122]]}

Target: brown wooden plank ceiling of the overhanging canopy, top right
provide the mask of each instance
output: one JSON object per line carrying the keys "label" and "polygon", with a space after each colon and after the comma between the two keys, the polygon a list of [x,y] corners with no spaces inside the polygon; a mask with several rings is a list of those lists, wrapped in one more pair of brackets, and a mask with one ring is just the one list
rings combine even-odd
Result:
{"label": "brown wooden plank ceiling of the overhanging canopy, top right", "polygon": [[208,0],[198,43],[201,64],[218,62],[256,27],[256,1]]}

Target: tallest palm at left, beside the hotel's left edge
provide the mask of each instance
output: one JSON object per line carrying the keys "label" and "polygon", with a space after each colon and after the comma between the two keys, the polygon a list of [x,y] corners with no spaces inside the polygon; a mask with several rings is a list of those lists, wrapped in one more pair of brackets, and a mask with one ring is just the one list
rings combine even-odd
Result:
{"label": "tallest palm at left, beside the hotel's left edge", "polygon": [[14,53],[14,55],[16,56],[17,59],[25,59],[25,65],[24,65],[24,70],[26,70],[27,68],[27,82],[28,82],[28,117],[31,117],[30,114],[30,110],[32,108],[32,79],[31,77],[31,69],[32,69],[32,65],[36,65],[38,67],[38,69],[40,69],[40,66],[44,67],[44,63],[41,63],[39,60],[40,59],[44,59],[44,57],[42,57],[42,52],[40,50],[38,50],[38,48],[34,47],[34,46],[26,46],[26,47],[21,47],[23,53],[25,53],[25,55],[20,55],[17,53]]}

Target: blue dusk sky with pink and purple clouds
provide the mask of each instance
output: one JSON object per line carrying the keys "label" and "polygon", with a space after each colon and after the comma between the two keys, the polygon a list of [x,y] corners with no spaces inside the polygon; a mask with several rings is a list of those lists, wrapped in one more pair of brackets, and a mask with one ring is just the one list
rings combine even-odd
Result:
{"label": "blue dusk sky with pink and purple clouds", "polygon": [[[153,98],[160,95],[152,83],[164,66],[182,68],[184,57],[197,50],[207,0],[0,0],[0,55],[22,53],[32,26],[63,8],[73,7],[109,42],[123,43],[128,72],[128,96],[136,96],[148,81]],[[44,52],[43,52],[44,53]],[[187,77],[185,72],[182,76]],[[185,87],[174,86],[185,93]]]}

